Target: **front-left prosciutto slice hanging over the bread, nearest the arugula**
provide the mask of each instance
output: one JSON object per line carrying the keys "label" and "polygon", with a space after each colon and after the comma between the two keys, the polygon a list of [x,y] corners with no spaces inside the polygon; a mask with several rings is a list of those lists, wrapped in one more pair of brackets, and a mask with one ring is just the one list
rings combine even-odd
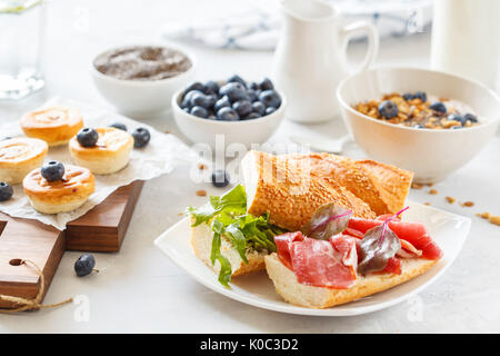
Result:
{"label": "front-left prosciutto slice hanging over the bread, nearest the arugula", "polygon": [[356,241],[342,235],[330,240],[304,237],[300,231],[274,237],[280,260],[292,269],[299,283],[346,289],[356,281]]}

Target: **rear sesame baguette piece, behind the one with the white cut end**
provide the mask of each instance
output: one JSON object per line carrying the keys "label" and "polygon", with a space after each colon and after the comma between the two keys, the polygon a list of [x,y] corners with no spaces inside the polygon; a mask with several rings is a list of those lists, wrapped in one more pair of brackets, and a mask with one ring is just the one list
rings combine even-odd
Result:
{"label": "rear sesame baguette piece, behind the one with the white cut end", "polygon": [[367,202],[377,215],[396,214],[403,208],[413,172],[373,160],[354,160],[329,154],[291,155],[288,159],[340,185]]}

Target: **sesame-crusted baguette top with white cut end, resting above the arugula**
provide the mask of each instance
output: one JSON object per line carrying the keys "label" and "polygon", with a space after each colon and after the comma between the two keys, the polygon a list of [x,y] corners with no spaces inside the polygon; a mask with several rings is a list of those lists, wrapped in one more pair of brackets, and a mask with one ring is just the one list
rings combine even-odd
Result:
{"label": "sesame-crusted baguette top with white cut end, resting above the arugula", "polygon": [[337,202],[357,217],[374,218],[370,207],[334,180],[326,182],[286,156],[249,151],[241,161],[248,212],[297,231],[322,205]]}

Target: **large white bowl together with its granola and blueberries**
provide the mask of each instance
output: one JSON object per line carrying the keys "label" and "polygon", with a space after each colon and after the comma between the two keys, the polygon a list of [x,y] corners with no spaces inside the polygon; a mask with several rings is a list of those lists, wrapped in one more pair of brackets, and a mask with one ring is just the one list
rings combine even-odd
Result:
{"label": "large white bowl together with its granola and blueberries", "polygon": [[436,182],[467,165],[500,122],[500,98],[480,82],[416,68],[354,75],[337,89],[341,113],[364,152]]}

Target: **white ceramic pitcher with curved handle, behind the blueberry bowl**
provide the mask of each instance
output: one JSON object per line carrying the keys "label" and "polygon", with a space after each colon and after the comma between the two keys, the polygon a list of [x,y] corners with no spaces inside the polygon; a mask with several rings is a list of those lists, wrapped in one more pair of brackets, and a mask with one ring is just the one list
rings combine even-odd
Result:
{"label": "white ceramic pitcher with curved handle, behind the blueberry bowl", "polygon": [[338,83],[350,75],[347,44],[359,33],[368,34],[368,52],[360,68],[367,69],[379,48],[377,29],[368,22],[341,24],[339,11],[319,0],[281,0],[281,37],[274,52],[273,79],[287,96],[287,117],[298,122],[322,122],[339,112]]}

